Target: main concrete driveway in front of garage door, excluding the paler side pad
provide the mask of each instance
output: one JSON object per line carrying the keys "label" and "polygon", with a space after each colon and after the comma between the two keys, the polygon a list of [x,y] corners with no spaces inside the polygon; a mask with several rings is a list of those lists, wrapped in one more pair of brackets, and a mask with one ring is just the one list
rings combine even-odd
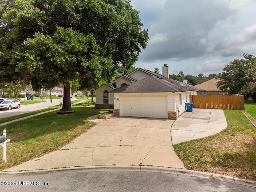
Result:
{"label": "main concrete driveway in front of garage door, excluding the paler side pad", "polygon": [[96,165],[184,168],[171,142],[174,120],[114,117],[98,124],[60,150],[5,171]]}

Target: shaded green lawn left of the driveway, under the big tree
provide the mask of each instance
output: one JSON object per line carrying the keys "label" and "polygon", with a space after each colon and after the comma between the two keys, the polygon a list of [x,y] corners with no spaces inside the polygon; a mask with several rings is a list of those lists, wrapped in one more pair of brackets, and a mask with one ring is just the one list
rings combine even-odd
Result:
{"label": "shaded green lawn left of the driveway, under the big tree", "polygon": [[8,143],[7,162],[0,163],[0,170],[58,150],[94,126],[95,123],[86,118],[103,112],[94,106],[82,107],[82,103],[72,106],[72,109],[76,109],[77,112],[49,112],[1,126],[1,130],[6,128],[7,137],[11,142]]}

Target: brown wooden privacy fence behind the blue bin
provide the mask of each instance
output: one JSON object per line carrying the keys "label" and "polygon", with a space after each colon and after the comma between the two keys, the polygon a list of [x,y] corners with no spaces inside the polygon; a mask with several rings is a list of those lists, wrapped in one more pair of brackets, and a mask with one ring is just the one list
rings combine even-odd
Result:
{"label": "brown wooden privacy fence behind the blue bin", "polygon": [[244,96],[190,95],[194,108],[244,110]]}

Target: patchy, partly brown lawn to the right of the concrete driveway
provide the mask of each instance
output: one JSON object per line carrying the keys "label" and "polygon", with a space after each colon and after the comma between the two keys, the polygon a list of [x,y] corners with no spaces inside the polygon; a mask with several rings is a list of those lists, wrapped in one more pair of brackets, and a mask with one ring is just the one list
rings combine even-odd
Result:
{"label": "patchy, partly brown lawn to the right of the concrete driveway", "polygon": [[[255,116],[256,105],[246,102]],[[224,110],[228,126],[222,132],[174,145],[185,168],[256,180],[256,128],[240,110]]]}

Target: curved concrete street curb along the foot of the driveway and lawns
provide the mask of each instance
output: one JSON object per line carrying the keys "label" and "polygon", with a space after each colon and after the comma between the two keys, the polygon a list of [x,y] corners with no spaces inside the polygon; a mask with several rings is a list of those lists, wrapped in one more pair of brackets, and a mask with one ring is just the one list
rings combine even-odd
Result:
{"label": "curved concrete street curb along the foot of the driveway and lawns", "polygon": [[67,167],[67,168],[54,168],[54,169],[42,169],[42,170],[21,170],[21,171],[6,171],[0,172],[0,175],[4,174],[32,174],[32,173],[47,173],[47,172],[61,172],[61,171],[84,171],[84,172],[95,172],[95,171],[138,171],[138,172],[158,172],[166,174],[186,175],[198,178],[206,178],[210,180],[219,180],[223,182],[229,182],[244,186],[250,186],[256,188],[256,181],[235,178],[232,176],[225,176],[221,174],[215,174],[210,172],[200,172],[182,168],[167,168],[167,167],[156,167],[156,166],[81,166],[81,167]]}

